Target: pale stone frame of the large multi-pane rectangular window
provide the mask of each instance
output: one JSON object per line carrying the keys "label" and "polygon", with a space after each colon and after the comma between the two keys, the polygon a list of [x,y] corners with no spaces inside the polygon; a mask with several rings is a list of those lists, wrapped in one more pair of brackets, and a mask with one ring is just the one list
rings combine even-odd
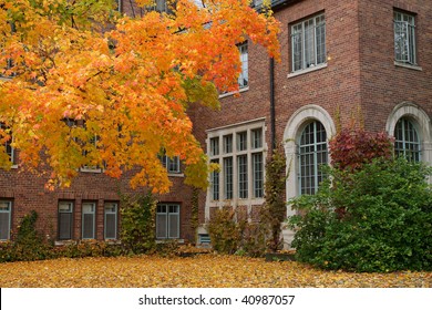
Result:
{"label": "pale stone frame of the large multi-pane rectangular window", "polygon": [[[209,161],[210,163],[219,164],[219,170],[212,173],[209,176],[208,206],[219,206],[227,202],[232,205],[241,204],[250,206],[264,202],[264,158],[266,158],[267,152],[264,137],[265,130],[264,118],[258,118],[207,131],[207,154]],[[254,143],[255,131],[260,134],[259,142],[256,143]],[[226,147],[227,141],[230,141],[232,147]],[[216,142],[219,143],[217,147],[215,146]],[[216,148],[223,152],[214,152]],[[263,158],[258,163],[261,168],[258,172],[261,176],[258,178],[256,176],[256,167],[253,165],[255,154],[261,154]],[[227,163],[230,163],[229,167],[232,169],[226,166]],[[227,173],[229,174],[227,175]],[[216,174],[217,177],[215,176]],[[215,179],[219,183],[214,184]],[[257,188],[259,184],[261,188]],[[215,194],[215,189],[219,195]]]}

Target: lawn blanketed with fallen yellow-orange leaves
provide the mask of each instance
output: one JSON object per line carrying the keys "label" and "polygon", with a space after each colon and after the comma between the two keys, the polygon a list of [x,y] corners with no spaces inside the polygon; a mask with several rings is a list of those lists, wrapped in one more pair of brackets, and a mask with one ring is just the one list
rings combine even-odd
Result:
{"label": "lawn blanketed with fallen yellow-orange leaves", "polygon": [[153,256],[0,264],[0,287],[432,287],[432,272],[350,273],[235,256]]}

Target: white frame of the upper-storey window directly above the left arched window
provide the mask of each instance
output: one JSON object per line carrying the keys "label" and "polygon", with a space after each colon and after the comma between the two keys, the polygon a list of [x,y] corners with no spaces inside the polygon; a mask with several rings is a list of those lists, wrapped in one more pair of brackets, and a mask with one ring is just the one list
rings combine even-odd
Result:
{"label": "white frame of the upper-storey window directly above the left arched window", "polygon": [[[311,42],[306,43],[306,30],[305,27],[308,23],[313,24],[313,38]],[[318,40],[318,29],[323,27],[323,38]],[[299,40],[299,42],[296,42]],[[322,41],[322,42],[321,42]],[[312,44],[309,46],[309,44]],[[323,51],[319,51],[319,50]],[[307,52],[311,51],[313,61],[310,63],[307,60]],[[296,55],[300,53],[300,62],[296,60]],[[310,19],[304,20],[301,22],[295,23],[291,25],[291,72],[305,71],[312,68],[319,68],[327,63],[327,46],[326,46],[326,19],[325,14],[320,13]],[[297,65],[299,65],[297,68]]]}

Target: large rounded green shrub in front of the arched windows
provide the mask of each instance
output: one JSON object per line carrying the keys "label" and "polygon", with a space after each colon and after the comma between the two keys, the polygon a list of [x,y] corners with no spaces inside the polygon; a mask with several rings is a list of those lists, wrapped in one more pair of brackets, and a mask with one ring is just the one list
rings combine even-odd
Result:
{"label": "large rounded green shrub in front of the arched windows", "polygon": [[432,269],[430,168],[379,158],[328,175],[316,195],[291,202],[297,259],[353,271]]}

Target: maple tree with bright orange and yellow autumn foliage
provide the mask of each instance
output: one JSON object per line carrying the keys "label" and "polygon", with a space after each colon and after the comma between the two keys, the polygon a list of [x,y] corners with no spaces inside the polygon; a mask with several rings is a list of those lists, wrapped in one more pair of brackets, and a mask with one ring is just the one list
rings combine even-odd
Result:
{"label": "maple tree with bright orange and yellow autumn foliage", "polygon": [[[152,0],[136,0],[148,8]],[[0,0],[0,130],[22,168],[69,186],[82,166],[132,186],[169,188],[160,155],[179,156],[186,182],[205,186],[207,158],[188,104],[217,107],[240,71],[236,44],[279,58],[279,25],[248,0],[192,0],[169,13],[122,17],[113,0]],[[13,76],[13,78],[4,78]],[[0,165],[10,161],[0,148]]]}

